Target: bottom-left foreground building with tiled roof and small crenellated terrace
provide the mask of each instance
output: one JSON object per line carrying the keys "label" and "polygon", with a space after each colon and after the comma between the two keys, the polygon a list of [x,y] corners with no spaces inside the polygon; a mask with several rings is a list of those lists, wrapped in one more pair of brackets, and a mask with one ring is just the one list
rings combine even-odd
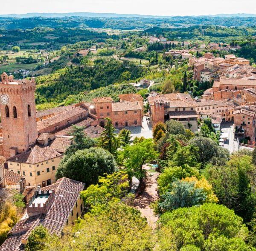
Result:
{"label": "bottom-left foreground building with tiled roof and small crenellated terrace", "polygon": [[31,231],[39,225],[47,228],[49,234],[61,237],[64,227],[81,216],[83,189],[84,183],[67,178],[36,188],[26,204],[26,216],[11,229],[0,251],[24,250]]}

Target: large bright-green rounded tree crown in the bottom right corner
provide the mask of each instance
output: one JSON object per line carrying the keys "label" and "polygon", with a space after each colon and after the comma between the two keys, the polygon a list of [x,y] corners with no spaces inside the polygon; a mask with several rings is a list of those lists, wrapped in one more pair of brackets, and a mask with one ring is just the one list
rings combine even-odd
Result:
{"label": "large bright-green rounded tree crown in the bottom right corner", "polygon": [[244,240],[248,229],[242,218],[223,205],[204,203],[201,206],[178,208],[163,214],[160,222],[174,235],[178,250],[186,245],[195,245],[201,250],[231,251],[232,249],[206,248],[207,245],[215,245],[215,241],[222,237],[230,242],[233,238],[238,238],[241,245],[246,246]]}

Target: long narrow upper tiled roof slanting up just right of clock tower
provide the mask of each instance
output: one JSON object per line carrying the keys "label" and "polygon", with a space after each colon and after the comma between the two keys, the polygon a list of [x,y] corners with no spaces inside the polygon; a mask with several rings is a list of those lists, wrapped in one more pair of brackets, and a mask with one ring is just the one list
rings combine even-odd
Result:
{"label": "long narrow upper tiled roof slanting up just right of clock tower", "polygon": [[60,114],[57,114],[53,117],[50,117],[50,118],[46,119],[46,120],[38,121],[37,129],[38,129],[38,131],[41,131],[44,128],[48,128],[51,125],[59,123],[63,120],[67,120],[71,117],[74,117],[74,116],[84,112],[84,111],[86,111],[86,109],[81,107],[81,106],[78,106],[78,107],[73,108],[73,109],[68,110],[68,111],[64,111]]}

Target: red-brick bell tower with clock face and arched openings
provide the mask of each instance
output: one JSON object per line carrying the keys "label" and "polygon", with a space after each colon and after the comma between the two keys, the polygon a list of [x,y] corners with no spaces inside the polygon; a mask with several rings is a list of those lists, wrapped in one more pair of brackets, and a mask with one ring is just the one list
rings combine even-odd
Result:
{"label": "red-brick bell tower with clock face and arched openings", "polygon": [[29,150],[38,137],[35,110],[35,79],[14,80],[3,73],[0,82],[0,111],[3,155],[6,159]]}

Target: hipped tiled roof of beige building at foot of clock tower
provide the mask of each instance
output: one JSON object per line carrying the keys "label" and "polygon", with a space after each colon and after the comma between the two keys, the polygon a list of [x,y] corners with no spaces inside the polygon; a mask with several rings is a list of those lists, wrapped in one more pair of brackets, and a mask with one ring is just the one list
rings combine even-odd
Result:
{"label": "hipped tiled roof of beige building at foot of clock tower", "polygon": [[31,151],[17,154],[9,158],[10,162],[36,164],[61,156],[57,151],[49,146],[36,144]]}

